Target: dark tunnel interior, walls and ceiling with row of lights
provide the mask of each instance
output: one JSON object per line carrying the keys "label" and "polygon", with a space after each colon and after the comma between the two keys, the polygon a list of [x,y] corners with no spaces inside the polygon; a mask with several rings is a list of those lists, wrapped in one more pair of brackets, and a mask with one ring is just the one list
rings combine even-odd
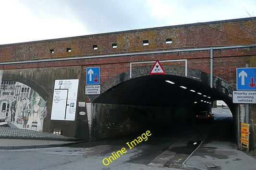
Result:
{"label": "dark tunnel interior, walls and ceiling with row of lights", "polygon": [[197,112],[210,110],[212,102],[219,99],[232,103],[218,89],[191,78],[168,74],[136,77],[93,101],[90,136],[109,138],[146,130],[160,133],[191,125]]}

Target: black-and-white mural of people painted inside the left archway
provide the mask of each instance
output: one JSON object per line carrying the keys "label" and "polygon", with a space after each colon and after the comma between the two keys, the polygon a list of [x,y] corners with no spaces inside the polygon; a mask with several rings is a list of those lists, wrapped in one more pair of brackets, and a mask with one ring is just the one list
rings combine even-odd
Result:
{"label": "black-and-white mural of people painted inside the left archway", "polygon": [[42,131],[47,116],[45,100],[27,85],[16,81],[1,81],[0,118],[10,127]]}

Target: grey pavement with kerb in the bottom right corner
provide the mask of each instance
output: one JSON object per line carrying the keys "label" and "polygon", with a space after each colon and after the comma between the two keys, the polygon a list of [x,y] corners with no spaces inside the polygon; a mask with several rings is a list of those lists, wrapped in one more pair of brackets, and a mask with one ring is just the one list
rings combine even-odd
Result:
{"label": "grey pavement with kerb in the bottom right corner", "polygon": [[183,162],[187,170],[256,170],[256,159],[227,141],[203,141]]}

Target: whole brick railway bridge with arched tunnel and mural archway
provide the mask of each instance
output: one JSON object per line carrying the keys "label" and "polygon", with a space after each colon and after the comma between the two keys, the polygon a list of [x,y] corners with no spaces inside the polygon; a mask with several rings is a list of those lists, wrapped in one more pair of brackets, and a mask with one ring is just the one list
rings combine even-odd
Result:
{"label": "whole brick railway bridge with arched tunnel and mural archway", "polygon": [[[239,144],[248,117],[232,91],[236,68],[256,67],[256,18],[4,44],[0,59],[0,116],[10,126],[95,140],[182,125],[223,100]],[[149,74],[156,61],[165,74]],[[249,123],[253,149],[256,104]]]}

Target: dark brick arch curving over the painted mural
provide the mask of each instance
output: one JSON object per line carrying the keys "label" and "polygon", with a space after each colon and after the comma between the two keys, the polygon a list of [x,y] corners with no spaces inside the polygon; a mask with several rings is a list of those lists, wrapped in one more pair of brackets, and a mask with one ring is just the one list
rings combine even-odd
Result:
{"label": "dark brick arch curving over the painted mural", "polygon": [[19,75],[19,74],[4,73],[2,76],[2,79],[23,83],[24,85],[27,85],[32,89],[34,89],[45,101],[49,99],[50,95],[47,93],[47,91],[37,82],[35,82],[34,80],[31,80],[28,77],[24,77],[23,75]]}

